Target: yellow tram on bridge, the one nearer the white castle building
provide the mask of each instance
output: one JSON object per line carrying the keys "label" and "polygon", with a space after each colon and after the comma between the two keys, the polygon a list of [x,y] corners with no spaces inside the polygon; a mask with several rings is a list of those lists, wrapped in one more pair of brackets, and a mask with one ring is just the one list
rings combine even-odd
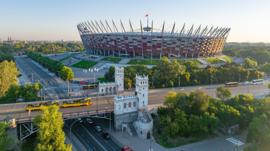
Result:
{"label": "yellow tram on bridge, the one nearer the white castle building", "polygon": [[62,107],[75,107],[75,106],[87,106],[91,105],[92,101],[91,98],[85,99],[77,99],[77,100],[69,100],[69,101],[62,101]]}

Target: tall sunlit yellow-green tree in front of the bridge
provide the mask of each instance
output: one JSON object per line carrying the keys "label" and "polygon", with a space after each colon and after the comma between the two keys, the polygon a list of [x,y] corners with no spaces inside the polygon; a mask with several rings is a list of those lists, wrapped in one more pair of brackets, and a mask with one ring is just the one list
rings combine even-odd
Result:
{"label": "tall sunlit yellow-green tree in front of the bridge", "polygon": [[71,151],[71,145],[65,144],[65,133],[62,128],[64,122],[62,113],[58,112],[56,105],[48,107],[41,106],[43,114],[38,114],[33,119],[33,124],[38,126],[38,135],[36,140],[39,142],[35,150],[60,150]]}

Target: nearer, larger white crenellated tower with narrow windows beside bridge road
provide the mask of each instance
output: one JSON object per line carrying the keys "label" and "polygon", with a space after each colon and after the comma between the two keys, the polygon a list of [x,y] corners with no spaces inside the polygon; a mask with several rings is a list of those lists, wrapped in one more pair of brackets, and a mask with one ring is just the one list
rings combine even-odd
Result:
{"label": "nearer, larger white crenellated tower with narrow windows beside bridge road", "polygon": [[148,111],[148,75],[145,76],[144,74],[141,76],[137,76],[136,74],[136,92],[139,98],[139,106],[138,109],[142,112]]}

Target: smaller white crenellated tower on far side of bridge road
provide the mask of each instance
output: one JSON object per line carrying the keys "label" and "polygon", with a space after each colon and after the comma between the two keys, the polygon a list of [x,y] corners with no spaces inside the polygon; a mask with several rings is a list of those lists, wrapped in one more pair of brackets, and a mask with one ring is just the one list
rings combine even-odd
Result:
{"label": "smaller white crenellated tower on far side of bridge road", "polygon": [[114,82],[117,83],[117,94],[124,93],[124,67],[115,67]]}

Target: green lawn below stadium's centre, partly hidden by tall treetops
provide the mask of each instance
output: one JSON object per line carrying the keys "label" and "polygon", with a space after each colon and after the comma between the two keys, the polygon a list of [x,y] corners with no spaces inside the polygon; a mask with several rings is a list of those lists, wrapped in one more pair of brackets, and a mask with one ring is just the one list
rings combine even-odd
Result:
{"label": "green lawn below stadium's centre, partly hidden by tall treetops", "polygon": [[[151,61],[152,61],[152,65],[157,65],[157,63],[159,61],[158,59],[153,59],[153,60],[150,60],[150,59],[131,59],[127,64],[138,64],[137,60],[141,60],[141,62],[139,62],[139,64],[143,64],[143,65],[151,65]],[[194,61],[195,62],[195,59],[177,60],[177,62],[180,65],[183,65],[183,63],[186,61]],[[199,62],[199,61],[196,60],[196,62]],[[199,63],[202,64],[201,62],[199,62]]]}

